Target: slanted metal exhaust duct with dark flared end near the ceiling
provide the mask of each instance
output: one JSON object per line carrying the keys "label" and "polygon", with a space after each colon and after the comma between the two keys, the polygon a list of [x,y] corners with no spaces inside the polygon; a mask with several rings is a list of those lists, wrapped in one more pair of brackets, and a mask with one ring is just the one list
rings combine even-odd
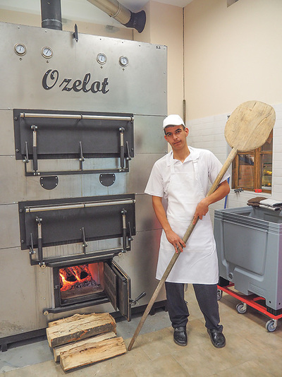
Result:
{"label": "slanted metal exhaust duct with dark flared end near the ceiling", "polygon": [[121,5],[117,0],[87,0],[97,8],[113,17],[126,28],[136,29],[142,32],[145,28],[146,13],[140,11],[138,13],[131,12],[128,8]]}

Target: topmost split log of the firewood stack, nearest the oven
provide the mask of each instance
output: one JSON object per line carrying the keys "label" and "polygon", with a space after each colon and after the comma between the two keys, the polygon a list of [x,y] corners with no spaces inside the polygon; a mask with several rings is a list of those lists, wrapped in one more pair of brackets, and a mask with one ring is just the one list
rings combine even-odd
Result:
{"label": "topmost split log of the firewood stack, nearest the oven", "polygon": [[49,346],[57,347],[110,331],[116,333],[114,318],[109,313],[93,313],[75,321],[62,321],[59,325],[47,328],[46,333]]}

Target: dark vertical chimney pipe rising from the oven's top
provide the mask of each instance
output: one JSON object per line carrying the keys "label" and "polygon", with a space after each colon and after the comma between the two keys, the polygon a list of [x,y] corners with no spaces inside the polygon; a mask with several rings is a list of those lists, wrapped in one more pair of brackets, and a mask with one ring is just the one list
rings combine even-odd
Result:
{"label": "dark vertical chimney pipe rising from the oven's top", "polygon": [[42,28],[63,30],[61,22],[61,0],[40,1]]}

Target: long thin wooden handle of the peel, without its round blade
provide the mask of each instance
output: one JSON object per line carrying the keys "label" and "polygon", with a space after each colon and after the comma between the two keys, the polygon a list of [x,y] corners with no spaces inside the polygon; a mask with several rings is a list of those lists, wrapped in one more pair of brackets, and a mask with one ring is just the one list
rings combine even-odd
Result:
{"label": "long thin wooden handle of the peel, without its round blade", "polygon": [[[207,196],[210,196],[212,195],[212,193],[214,193],[214,191],[216,191],[216,188],[219,186],[219,183],[221,181],[221,179],[223,178],[223,175],[226,174],[227,172],[227,169],[228,167],[230,167],[231,165],[231,162],[234,160],[235,158],[235,155],[237,154],[238,150],[236,148],[233,148],[231,150],[231,152],[229,153],[228,157],[227,157],[227,160],[226,162],[224,162],[223,164],[223,167],[221,167],[221,171],[219,172],[218,176],[216,176],[216,179],[214,181],[214,183],[212,184],[212,187],[209,189],[209,192],[207,193]],[[199,220],[199,217],[197,218],[197,221]],[[190,223],[188,229],[186,230],[184,236],[183,236],[183,242],[186,244],[186,242],[188,241],[189,237],[190,237],[190,234],[192,233],[192,231],[194,230],[196,224],[197,224],[197,221],[195,224],[193,224],[193,222]],[[142,329],[142,326],[143,324],[145,323],[146,321],[146,318],[149,314],[149,311],[152,309],[152,306],[154,305],[154,301],[156,301],[158,295],[159,295],[159,292],[161,290],[161,287],[164,285],[164,282],[166,281],[169,273],[171,272],[171,269],[173,268],[173,265],[175,265],[177,259],[178,259],[178,256],[180,256],[180,251],[178,250],[178,253],[174,253],[173,254],[173,257],[171,258],[171,261],[168,263],[168,266],[166,268],[166,270],[164,271],[164,275],[161,277],[161,280],[159,281],[159,284],[157,285],[157,288],[155,289],[153,295],[152,295],[152,298],[150,299],[149,301],[149,304],[147,305],[147,308],[145,309],[145,312],[143,313],[142,315],[142,318],[140,320],[140,323],[137,325],[137,328],[135,330],[135,333],[128,345],[128,351],[130,351],[130,349],[132,349],[133,345],[134,345],[134,342],[138,336],[138,334],[140,333],[140,330]]]}

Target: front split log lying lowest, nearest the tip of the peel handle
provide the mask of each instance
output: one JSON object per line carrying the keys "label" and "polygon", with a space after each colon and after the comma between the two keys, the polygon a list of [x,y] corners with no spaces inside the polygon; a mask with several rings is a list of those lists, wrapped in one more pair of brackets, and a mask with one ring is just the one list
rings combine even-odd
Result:
{"label": "front split log lying lowest, nearest the tip of the peel handle", "polygon": [[71,351],[61,353],[60,364],[63,371],[76,369],[80,366],[86,366],[116,357],[126,353],[125,343],[122,337],[114,337],[113,339],[103,340],[85,346],[75,347]]}

